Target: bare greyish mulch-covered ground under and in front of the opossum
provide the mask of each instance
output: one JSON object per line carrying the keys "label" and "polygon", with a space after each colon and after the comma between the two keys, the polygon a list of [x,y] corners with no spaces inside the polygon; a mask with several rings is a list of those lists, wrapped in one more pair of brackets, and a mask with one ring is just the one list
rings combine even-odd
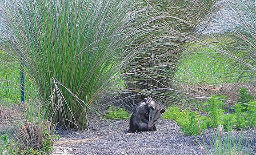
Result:
{"label": "bare greyish mulch-covered ground under and in front of the opossum", "polygon": [[128,120],[92,120],[88,131],[59,130],[54,155],[203,155],[195,137],[175,121],[160,120],[157,131],[128,133]]}

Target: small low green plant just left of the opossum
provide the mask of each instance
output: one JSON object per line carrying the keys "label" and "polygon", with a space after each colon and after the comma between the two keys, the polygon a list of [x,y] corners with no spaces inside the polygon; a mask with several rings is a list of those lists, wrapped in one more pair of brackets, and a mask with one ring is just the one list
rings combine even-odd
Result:
{"label": "small low green plant just left of the opossum", "polygon": [[125,108],[110,106],[104,116],[106,119],[128,119],[131,115]]}

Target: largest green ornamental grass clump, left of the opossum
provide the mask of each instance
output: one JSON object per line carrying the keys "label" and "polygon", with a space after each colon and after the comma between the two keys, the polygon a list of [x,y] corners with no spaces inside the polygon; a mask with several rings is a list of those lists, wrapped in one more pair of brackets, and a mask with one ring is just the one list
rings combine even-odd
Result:
{"label": "largest green ornamental grass clump, left of the opossum", "polygon": [[45,118],[85,129],[88,111],[119,74],[128,0],[3,0],[4,50],[24,65]]}

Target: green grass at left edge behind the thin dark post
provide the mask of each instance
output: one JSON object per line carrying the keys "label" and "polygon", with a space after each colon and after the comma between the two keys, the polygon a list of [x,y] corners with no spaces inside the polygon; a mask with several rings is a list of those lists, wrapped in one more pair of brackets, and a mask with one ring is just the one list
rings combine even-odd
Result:
{"label": "green grass at left edge behind the thin dark post", "polygon": [[[24,75],[25,102],[37,95],[28,76]],[[0,105],[20,103],[20,63],[0,50]]]}

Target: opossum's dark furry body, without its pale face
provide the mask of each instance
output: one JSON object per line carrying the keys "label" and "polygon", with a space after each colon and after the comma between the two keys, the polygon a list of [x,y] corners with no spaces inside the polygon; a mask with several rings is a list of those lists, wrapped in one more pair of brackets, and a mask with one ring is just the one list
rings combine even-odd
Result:
{"label": "opossum's dark furry body, without its pale face", "polygon": [[148,127],[150,107],[145,103],[140,103],[133,111],[130,119],[130,132],[156,131],[155,124]]}

